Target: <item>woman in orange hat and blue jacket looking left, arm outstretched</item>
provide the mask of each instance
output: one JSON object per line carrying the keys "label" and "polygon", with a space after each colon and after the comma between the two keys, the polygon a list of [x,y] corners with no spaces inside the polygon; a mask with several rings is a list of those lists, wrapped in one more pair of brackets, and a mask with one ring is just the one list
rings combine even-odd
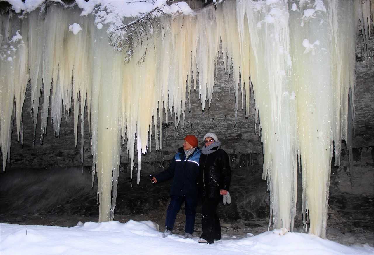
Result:
{"label": "woman in orange hat and blue jacket looking left, arm outstretched", "polygon": [[171,160],[168,169],[152,178],[154,183],[163,182],[173,178],[170,189],[171,201],[166,211],[165,231],[163,237],[172,234],[175,218],[184,202],[186,214],[186,226],[184,236],[192,238],[195,225],[197,205],[197,177],[199,176],[200,149],[197,147],[197,138],[187,135],[184,138],[183,147]]}

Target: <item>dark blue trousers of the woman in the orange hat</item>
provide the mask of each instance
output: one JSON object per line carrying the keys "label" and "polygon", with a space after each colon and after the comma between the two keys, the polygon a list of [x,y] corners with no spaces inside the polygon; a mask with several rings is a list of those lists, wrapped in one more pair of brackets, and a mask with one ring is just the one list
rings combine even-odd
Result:
{"label": "dark blue trousers of the woman in the orange hat", "polygon": [[184,202],[184,214],[186,214],[186,226],[185,232],[188,234],[193,233],[193,228],[195,226],[196,217],[196,196],[171,196],[171,201],[166,211],[165,226],[169,229],[173,229],[175,218],[181,209],[181,205]]}

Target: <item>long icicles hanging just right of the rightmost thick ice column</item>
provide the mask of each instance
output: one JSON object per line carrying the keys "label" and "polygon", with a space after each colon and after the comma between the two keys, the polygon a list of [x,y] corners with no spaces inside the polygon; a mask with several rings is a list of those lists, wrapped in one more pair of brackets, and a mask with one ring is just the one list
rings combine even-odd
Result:
{"label": "long icicles hanging just right of the rightmost thick ice column", "polygon": [[[346,140],[348,123],[349,91],[354,100],[355,67],[356,67],[356,36],[358,19],[355,18],[356,5],[349,5],[341,1],[332,1],[329,8],[330,26],[332,28],[332,86],[334,93],[334,126],[333,140],[335,141],[335,166],[340,163],[341,139]],[[337,12],[339,10],[339,12]],[[352,22],[355,21],[355,22]],[[353,118],[353,115],[352,115]]]}

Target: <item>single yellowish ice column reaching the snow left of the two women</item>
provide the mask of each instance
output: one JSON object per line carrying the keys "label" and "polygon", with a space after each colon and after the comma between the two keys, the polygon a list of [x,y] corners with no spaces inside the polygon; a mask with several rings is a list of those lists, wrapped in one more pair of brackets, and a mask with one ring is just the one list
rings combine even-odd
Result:
{"label": "single yellowish ice column reaching the snow left of the two women", "polygon": [[[108,45],[107,38],[102,35],[96,37],[99,47],[97,51],[92,47],[93,58],[98,58],[97,66],[93,72],[99,72],[101,83],[98,87],[98,123],[97,123],[97,148],[94,156],[100,198],[99,222],[108,221],[111,218],[111,190],[116,185],[119,169],[120,153],[120,98],[123,73],[123,55],[114,52]],[[104,80],[105,77],[105,80]]]}

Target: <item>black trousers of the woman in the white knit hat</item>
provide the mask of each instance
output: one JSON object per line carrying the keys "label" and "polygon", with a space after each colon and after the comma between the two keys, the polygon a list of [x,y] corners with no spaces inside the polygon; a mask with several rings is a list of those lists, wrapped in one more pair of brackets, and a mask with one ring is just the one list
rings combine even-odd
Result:
{"label": "black trousers of the woman in the white knit hat", "polygon": [[219,198],[203,198],[201,208],[201,227],[203,233],[200,238],[207,240],[209,243],[214,243],[214,240],[221,239],[221,224],[216,213],[219,202]]}

